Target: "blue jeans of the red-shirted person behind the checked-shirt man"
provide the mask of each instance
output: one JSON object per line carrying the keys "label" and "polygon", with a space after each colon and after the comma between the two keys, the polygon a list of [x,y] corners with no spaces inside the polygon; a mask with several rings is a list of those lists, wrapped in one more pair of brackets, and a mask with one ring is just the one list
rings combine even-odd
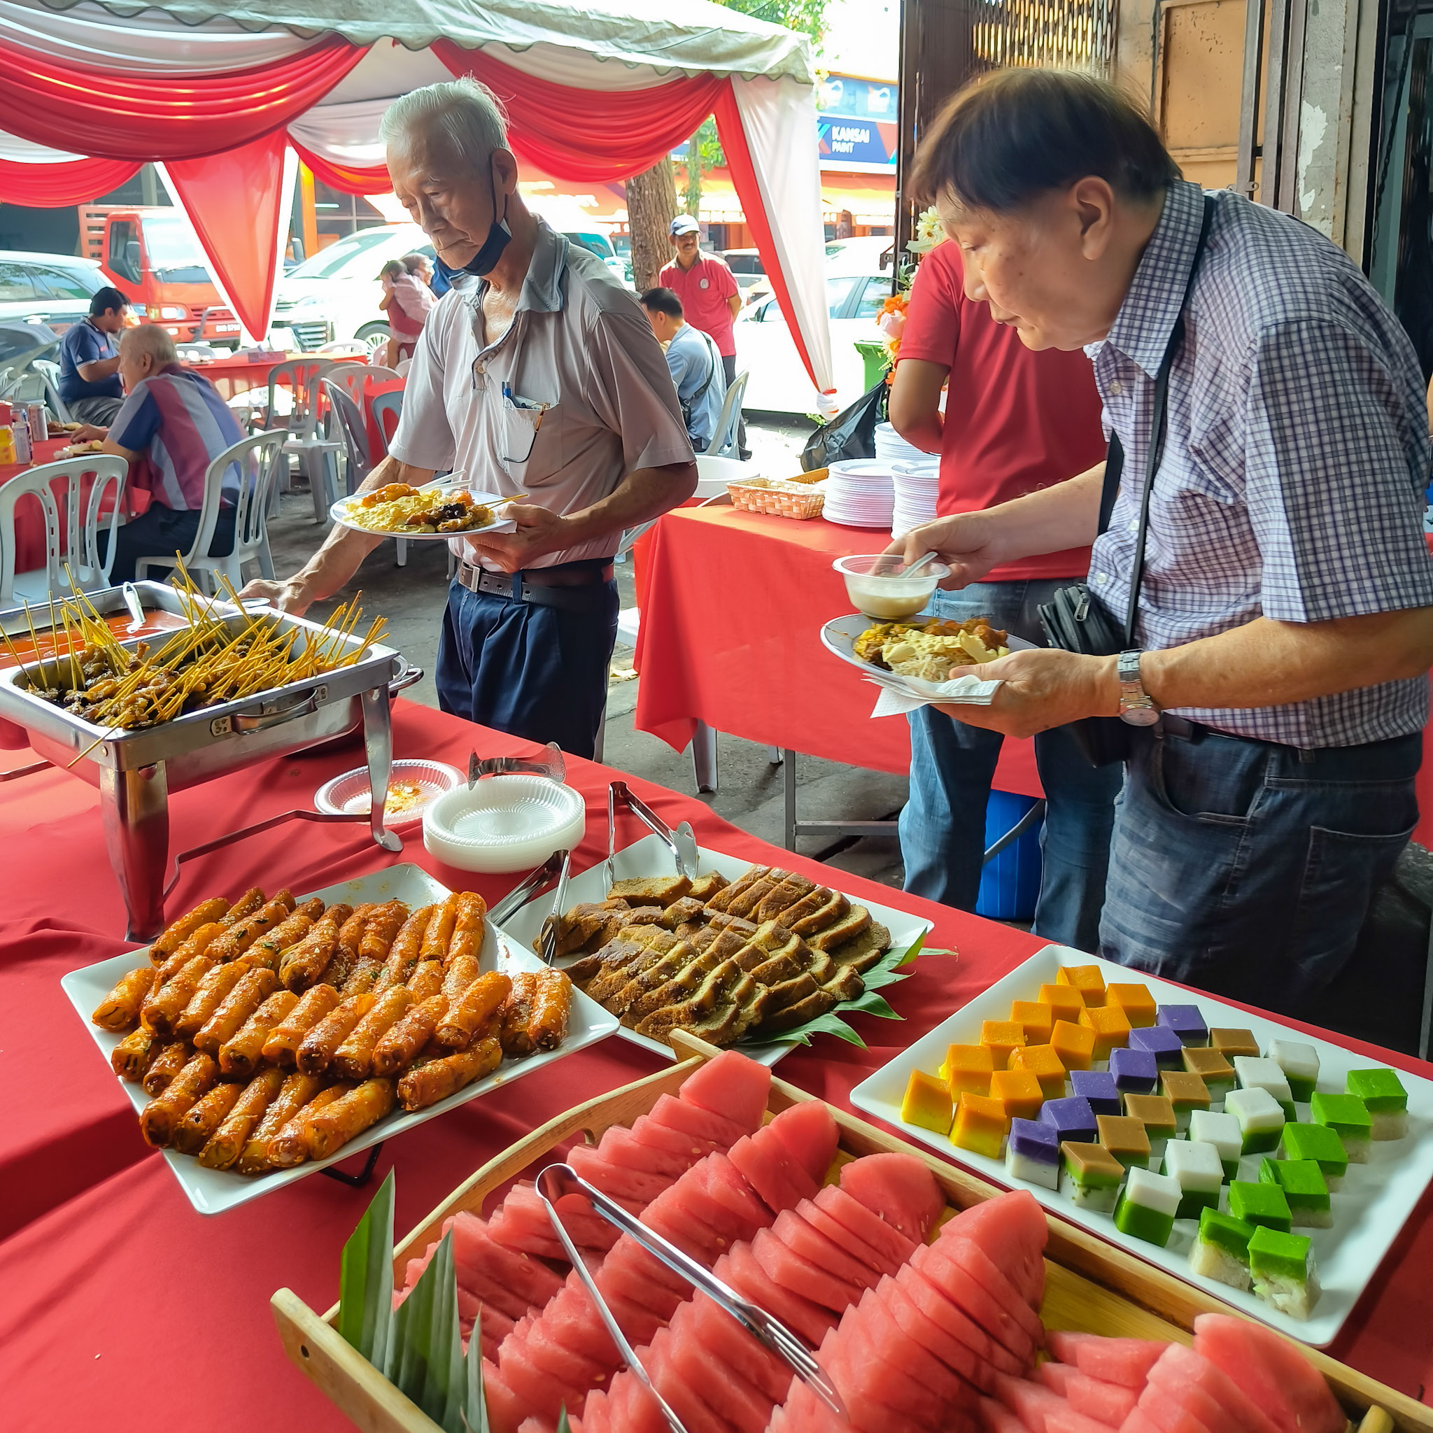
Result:
{"label": "blue jeans of the red-shirted person behind the checked-shirt man", "polygon": [[[1068,579],[977,582],[937,592],[930,616],[989,616],[1027,642],[1045,645],[1036,608]],[[910,800],[900,815],[906,890],[959,910],[974,910],[984,854],[986,804],[1005,737],[967,727],[933,706],[910,714]],[[1043,871],[1035,933],[1078,950],[1099,943],[1109,833],[1123,772],[1092,767],[1063,728],[1035,738],[1045,787]]]}

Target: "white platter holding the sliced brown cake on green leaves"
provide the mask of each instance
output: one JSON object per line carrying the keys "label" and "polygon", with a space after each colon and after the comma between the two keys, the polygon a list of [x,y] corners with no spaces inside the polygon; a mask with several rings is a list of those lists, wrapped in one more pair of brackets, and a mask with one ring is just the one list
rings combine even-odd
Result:
{"label": "white platter holding the sliced brown cake on green leaves", "polygon": [[[613,878],[618,883],[623,881],[641,883],[641,886],[636,887],[639,890],[645,888],[651,891],[661,891],[659,896],[651,898],[633,894],[632,897],[629,897],[629,904],[632,906],[632,909],[646,909],[651,907],[653,903],[661,903],[662,900],[666,900],[666,909],[663,909],[665,914],[666,910],[674,909],[672,907],[674,901],[695,898],[685,896],[671,896],[671,888],[679,888],[682,881],[681,877],[672,877],[668,874],[672,871],[672,866],[674,866],[672,856],[665,841],[658,835],[648,835],[643,837],[641,841],[636,841],[633,845],[629,845],[625,850],[618,851],[616,858],[613,861]],[[608,897],[605,870],[606,870],[606,863],[603,863],[602,866],[595,866],[590,870],[583,871],[580,876],[573,876],[567,881],[567,890],[563,900],[563,904],[567,909],[567,911],[572,911],[573,907],[579,906],[598,906]],[[775,871],[775,868],[752,867],[751,861],[745,861],[737,856],[725,856],[721,851],[709,851],[705,847],[698,847],[696,880],[699,883],[698,890],[704,891],[704,894],[705,894],[705,886],[708,883],[715,886],[715,880],[719,878],[722,883],[735,884],[741,881],[741,878],[752,870]],[[824,996],[815,995],[818,989],[818,977],[823,976],[827,977],[827,983],[820,984],[820,989],[824,990],[854,989],[854,982],[851,982],[850,977],[843,976],[841,970],[838,969],[840,966],[856,963],[857,973],[861,973],[863,966],[868,972],[873,967],[881,969],[887,966],[900,964],[919,953],[921,943],[926,939],[926,933],[931,929],[931,923],[929,920],[921,920],[920,917],[911,916],[907,911],[894,910],[888,906],[877,906],[874,901],[850,900],[848,897],[841,896],[840,893],[828,887],[818,887],[814,881],[807,881],[805,877],[794,876],[792,873],[777,871],[777,874],[784,876],[790,883],[792,883],[790,886],[790,890],[792,893],[795,893],[797,888],[801,886],[801,883],[804,883],[805,894],[801,896],[802,900],[814,900],[814,893],[825,891],[825,897],[823,898],[823,901],[814,903],[808,919],[813,921],[824,920],[828,916],[831,919],[820,929],[811,929],[808,931],[813,941],[820,940],[823,936],[834,937],[840,934],[841,930],[853,931],[850,937],[850,944],[847,944],[845,949],[841,949],[841,946],[837,944],[833,944],[831,947],[833,952],[831,960],[835,969],[827,969],[824,962],[817,962],[814,957],[804,956],[797,946],[790,946],[790,949],[785,950],[785,954],[782,957],[782,966],[778,967],[775,960],[772,962],[771,970],[764,970],[765,963],[757,966],[758,970],[764,970],[764,973],[757,977],[759,982],[765,982],[770,977],[775,980],[777,984],[782,986],[781,999],[787,999],[795,995],[797,990],[802,990],[805,984],[810,983],[811,993],[802,995],[801,999],[813,1002],[811,1005],[802,1007],[804,1010],[810,1010],[813,1017],[825,1013],[841,1016],[844,1010],[850,1009],[850,1002],[853,999],[848,996],[844,1000],[835,1000],[828,1006],[823,1006],[821,1002],[824,1000]],[[613,887],[613,890],[618,888],[619,887],[616,886]],[[714,891],[712,897],[708,898],[714,898],[715,894],[716,891]],[[698,904],[701,904],[701,901],[698,901]],[[787,909],[794,910],[794,906]],[[543,921],[547,919],[550,911],[552,911],[550,900],[546,898],[535,900],[530,904],[524,906],[522,910],[519,910],[514,916],[503,921],[502,930],[513,940],[522,941],[529,950],[537,950],[542,936]],[[858,914],[861,911],[868,914],[868,920],[866,920],[864,916]],[[695,913],[692,914],[695,916]],[[698,920],[702,923],[709,923],[708,917],[698,917]],[[866,921],[864,926],[861,924],[863,920]],[[848,924],[841,927],[838,924],[841,921],[847,921]],[[804,927],[807,926],[805,920],[798,923],[802,924]],[[752,923],[752,930],[755,930],[755,926],[757,923]],[[675,923],[672,926],[672,930],[675,934]],[[790,936],[790,931],[787,934]],[[577,950],[563,952],[562,947],[559,947],[559,954],[555,964],[559,969],[573,970],[576,967],[580,972],[582,967],[577,963],[585,959],[585,954],[590,956],[593,952],[589,950],[588,947],[600,940],[602,940],[602,933],[595,927],[590,934],[590,939],[585,941]],[[861,941],[867,943],[870,949],[863,949],[863,946],[858,944]],[[881,944],[883,947],[880,953],[874,950],[874,944],[877,943]],[[701,956],[696,960],[692,960],[691,966],[684,967],[682,970],[678,972],[663,972],[663,974],[669,974],[672,977],[671,980],[672,984],[679,983],[681,977],[686,976],[688,972],[691,972],[698,977],[705,977],[708,974],[712,974],[711,970],[702,969],[699,966],[699,960],[706,956],[706,949],[708,947],[702,949]],[[813,946],[813,949],[817,947]],[[874,962],[871,960],[871,956],[876,956]],[[802,963],[805,964],[805,969],[801,969]],[[787,966],[791,967],[790,972],[787,970]],[[801,984],[787,986],[784,980],[777,979],[778,976],[785,976],[788,980],[792,982],[801,980]],[[802,976],[810,976],[810,982],[802,980]],[[579,987],[580,984],[586,983],[580,973],[575,974],[573,980],[579,983]],[[833,984],[831,982],[835,983]],[[699,1002],[701,1000],[699,992],[702,989],[702,984],[698,984],[695,989],[698,990],[698,995],[694,999],[698,999]],[[712,997],[712,1005],[709,1010],[694,1012],[694,1015],[705,1013],[708,1019],[719,1017],[724,1009],[729,1009],[729,1006],[735,1003],[727,999],[731,987],[728,986],[727,990],[722,990],[721,993]],[[864,983],[861,993],[864,993]],[[754,992],[752,995],[759,995],[759,992]],[[854,999],[858,997],[860,995],[854,996]],[[678,1002],[674,1000],[669,1006],[666,1006],[666,1009],[675,1009],[676,1003]],[[659,1013],[662,1007],[658,1006],[655,1007],[653,1012],[649,1013],[656,1015]],[[784,1009],[788,1012],[788,1017],[794,1017],[792,1013],[797,1012],[795,1005],[788,1003]],[[623,1010],[623,1013],[629,1015],[631,1017],[629,1010]],[[772,1015],[772,1019],[777,1019],[777,1016]],[[722,1035],[719,1035],[711,1026],[708,1026],[708,1029],[702,1029],[699,1022],[692,1022],[686,1023],[685,1027],[692,1029],[694,1033],[704,1035],[708,1039],[714,1039],[714,1043],[725,1043]],[[629,1025],[622,1025],[618,1030],[618,1035],[620,1035],[622,1039],[625,1040],[631,1040],[633,1045],[641,1045],[643,1049],[652,1050],[653,1055],[662,1055],[666,1059],[675,1059],[672,1048],[669,1043],[666,1043],[665,1039],[641,1035],[638,1033],[636,1029],[633,1029]],[[759,1060],[762,1065],[775,1065],[782,1055],[790,1053],[794,1045],[791,1040],[782,1040],[777,1037],[761,1039],[759,1035],[747,1035],[735,1042],[735,1048],[739,1049],[742,1055],[747,1055],[754,1060]]]}

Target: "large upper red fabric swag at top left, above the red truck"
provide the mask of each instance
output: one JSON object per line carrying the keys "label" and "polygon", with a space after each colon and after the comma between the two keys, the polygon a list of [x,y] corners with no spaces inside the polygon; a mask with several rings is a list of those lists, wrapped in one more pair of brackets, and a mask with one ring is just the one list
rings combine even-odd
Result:
{"label": "large upper red fabric swag at top left, above the red truck", "polygon": [[[282,129],[367,52],[338,36],[291,60],[219,75],[107,75],[0,44],[4,128],[97,159],[198,159]],[[92,191],[103,192],[103,189]]]}

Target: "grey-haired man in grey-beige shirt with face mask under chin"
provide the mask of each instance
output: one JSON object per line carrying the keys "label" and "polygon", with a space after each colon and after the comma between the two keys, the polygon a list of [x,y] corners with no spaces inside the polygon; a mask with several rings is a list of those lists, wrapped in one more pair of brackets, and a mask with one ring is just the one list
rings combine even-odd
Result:
{"label": "grey-haired man in grey-beige shirt with face mask under chin", "polygon": [[[635,295],[532,215],[503,116],[473,80],[414,90],[383,122],[394,193],[453,284],[413,355],[388,457],[364,489],[461,471],[523,494],[512,533],[456,539],[438,643],[444,711],[590,757],[616,641],[623,529],[679,506],[696,464]],[[287,582],[287,612],[337,592],[381,539],[334,527]]]}

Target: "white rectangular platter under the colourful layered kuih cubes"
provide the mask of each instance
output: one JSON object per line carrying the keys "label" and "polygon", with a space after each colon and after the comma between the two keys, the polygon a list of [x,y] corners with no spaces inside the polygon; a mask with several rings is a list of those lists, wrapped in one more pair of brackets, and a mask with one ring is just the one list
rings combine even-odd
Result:
{"label": "white rectangular platter under the colourful layered kuih cubes", "polygon": [[[900,1118],[901,1098],[906,1083],[914,1069],[934,1073],[946,1056],[947,1045],[977,1045],[982,1020],[1005,1020],[1010,1015],[1012,1000],[1033,1000],[1042,984],[1053,984],[1060,966],[1101,967],[1106,983],[1111,980],[1138,982],[1149,987],[1159,1005],[1195,1005],[1209,1026],[1232,1026],[1247,1029],[1258,1040],[1260,1050],[1268,1049],[1273,1039],[1294,1039],[1313,1045],[1318,1050],[1318,1089],[1343,1091],[1344,1076],[1351,1069],[1370,1069],[1376,1065],[1367,1056],[1356,1055],[1328,1040],[1315,1040],[1303,1030],[1293,1029],[1275,1019],[1241,1010],[1225,1005],[1214,996],[1189,990],[1185,986],[1158,980],[1139,970],[1126,970],[1108,960],[1086,956],[1068,946],[1046,946],[1029,960],[1016,966],[1003,980],[962,1006],[949,1020],[936,1026],[924,1039],[878,1069],[851,1091],[851,1103],[894,1125],[907,1139],[919,1141],[937,1154],[974,1169],[993,1184],[1012,1189],[1029,1189],[1048,1209],[1079,1224],[1086,1230],[1138,1254],[1151,1264],[1158,1264],[1178,1278],[1202,1288],[1232,1304],[1251,1318],[1271,1324],[1291,1338],[1324,1348],[1338,1336],[1344,1320],[1353,1311],[1358,1295],[1379,1268],[1380,1260],[1389,1252],[1403,1222],[1413,1212],[1423,1191],[1433,1179],[1433,1080],[1420,1079],[1399,1070],[1399,1079],[1409,1092],[1409,1134],[1404,1139],[1374,1141],[1369,1164],[1350,1164],[1341,1188],[1333,1191],[1333,1228],[1295,1228],[1295,1234],[1313,1238],[1314,1258],[1318,1265],[1318,1283],[1323,1293],[1308,1320],[1291,1318],[1265,1304],[1252,1293],[1242,1293],[1204,1278],[1189,1268],[1189,1248],[1198,1231],[1197,1219],[1175,1219],[1174,1234],[1165,1248],[1131,1238],[1115,1228],[1108,1214],[1080,1209],[1063,1191],[1046,1189],[1025,1179],[1016,1179],[1006,1169],[1003,1159],[990,1159],[957,1149],[949,1139],[930,1129],[909,1125]],[[1099,1068],[1099,1066],[1096,1066]],[[1308,1106],[1295,1105],[1298,1118],[1308,1121]],[[1258,1179],[1262,1155],[1245,1155],[1240,1161],[1241,1179]],[[1228,1184],[1221,1207],[1228,1207]]]}

